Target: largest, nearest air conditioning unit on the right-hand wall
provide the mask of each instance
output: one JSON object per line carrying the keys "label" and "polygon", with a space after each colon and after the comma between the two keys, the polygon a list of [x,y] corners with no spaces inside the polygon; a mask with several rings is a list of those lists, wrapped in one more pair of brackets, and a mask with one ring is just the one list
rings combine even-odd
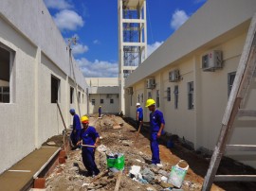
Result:
{"label": "largest, nearest air conditioning unit on the right-hand wall", "polygon": [[202,57],[203,71],[214,72],[220,68],[222,68],[222,52],[220,50],[213,50]]}

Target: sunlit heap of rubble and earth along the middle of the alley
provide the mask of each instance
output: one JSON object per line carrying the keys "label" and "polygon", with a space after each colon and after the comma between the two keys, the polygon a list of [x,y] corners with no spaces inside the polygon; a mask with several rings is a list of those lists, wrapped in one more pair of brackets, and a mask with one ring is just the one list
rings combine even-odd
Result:
{"label": "sunlit heap of rubble and earth along the middle of the alley", "polygon": [[[135,140],[137,131],[121,117],[90,117],[90,125],[101,135],[101,146],[95,153],[96,164],[101,173],[96,177],[87,176],[82,164],[81,150],[71,150],[67,153],[66,163],[58,165],[46,178],[46,190],[114,190],[119,171],[119,190],[201,190],[200,178],[197,178],[199,182],[185,179],[181,188],[169,183],[172,165],[174,161],[179,161],[179,158],[174,156],[169,148],[161,146],[161,164],[151,165],[148,137],[139,134]],[[165,151],[162,151],[163,148]],[[107,156],[111,155],[109,153],[113,156],[123,156],[122,169],[108,166]],[[192,174],[189,170],[188,177]]]}

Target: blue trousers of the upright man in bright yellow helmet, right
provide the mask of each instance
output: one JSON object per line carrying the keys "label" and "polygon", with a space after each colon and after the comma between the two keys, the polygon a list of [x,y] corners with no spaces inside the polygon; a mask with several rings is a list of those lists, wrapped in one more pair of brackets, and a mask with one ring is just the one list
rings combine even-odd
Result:
{"label": "blue trousers of the upright man in bright yellow helmet, right", "polygon": [[151,152],[152,152],[152,164],[155,164],[155,165],[160,164],[157,132],[151,132],[150,148],[151,148]]}

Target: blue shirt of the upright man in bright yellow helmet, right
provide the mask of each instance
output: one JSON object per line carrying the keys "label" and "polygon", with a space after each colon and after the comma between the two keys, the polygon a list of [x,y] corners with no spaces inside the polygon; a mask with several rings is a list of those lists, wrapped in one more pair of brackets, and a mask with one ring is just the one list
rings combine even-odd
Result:
{"label": "blue shirt of the upright man in bright yellow helmet, right", "polygon": [[155,110],[154,113],[150,113],[150,128],[152,132],[160,130],[161,124],[165,124],[163,113]]}

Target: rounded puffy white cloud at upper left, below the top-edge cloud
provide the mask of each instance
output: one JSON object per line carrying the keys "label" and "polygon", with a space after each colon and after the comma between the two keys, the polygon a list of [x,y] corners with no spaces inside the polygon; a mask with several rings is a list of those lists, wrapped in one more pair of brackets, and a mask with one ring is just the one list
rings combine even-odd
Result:
{"label": "rounded puffy white cloud at upper left, below the top-edge cloud", "polygon": [[56,13],[53,20],[60,30],[76,30],[79,26],[83,26],[82,17],[73,10],[61,10]]}

